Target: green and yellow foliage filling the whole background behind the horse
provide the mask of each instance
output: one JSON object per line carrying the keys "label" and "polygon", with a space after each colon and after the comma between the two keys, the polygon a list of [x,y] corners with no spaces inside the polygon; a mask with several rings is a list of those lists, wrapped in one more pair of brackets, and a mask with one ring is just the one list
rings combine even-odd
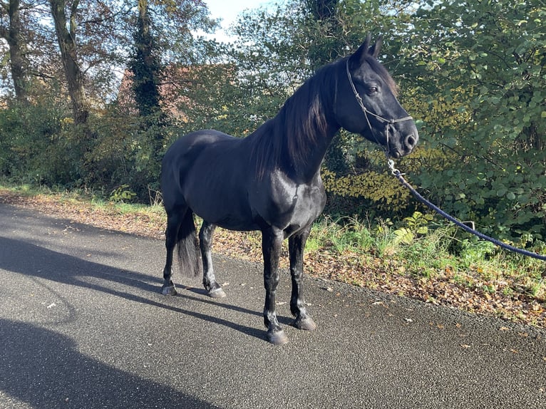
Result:
{"label": "green and yellow foliage filling the whole background behind the horse", "polygon": [[[51,12],[21,0],[24,46],[36,47],[25,48],[29,106],[9,98],[1,105],[2,175],[86,186],[106,197],[128,185],[147,199],[149,188],[158,189],[160,156],[175,138],[197,128],[248,135],[314,69],[353,51],[367,33],[382,33],[381,62],[421,133],[418,150],[397,167],[424,195],[483,232],[518,245],[545,241],[542,1],[294,0],[244,13],[232,45],[192,35],[215,24],[200,1],[149,6],[158,72],[185,70],[177,81],[168,73],[154,78],[176,90],[169,99],[183,114],[177,128],[163,123],[160,111],[134,117],[111,103],[118,81],[112,67],[123,68],[135,49],[134,2],[79,3],[78,62],[91,103],[83,130],[66,106]],[[0,14],[6,33],[5,10]],[[9,81],[7,54],[3,61]],[[381,152],[359,135],[341,133],[337,141],[323,172],[331,209],[363,215],[367,208],[372,218],[393,220],[422,211],[386,173]]]}

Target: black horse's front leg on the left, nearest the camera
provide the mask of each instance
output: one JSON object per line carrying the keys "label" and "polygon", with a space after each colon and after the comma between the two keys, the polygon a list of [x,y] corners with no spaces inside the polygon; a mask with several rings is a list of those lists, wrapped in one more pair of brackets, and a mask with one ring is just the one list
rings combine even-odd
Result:
{"label": "black horse's front leg on the left, nearest the camera", "polygon": [[262,230],[262,252],[264,254],[264,324],[267,326],[267,339],[274,345],[288,342],[275,314],[275,295],[279,284],[279,257],[284,234],[282,230],[269,227]]}

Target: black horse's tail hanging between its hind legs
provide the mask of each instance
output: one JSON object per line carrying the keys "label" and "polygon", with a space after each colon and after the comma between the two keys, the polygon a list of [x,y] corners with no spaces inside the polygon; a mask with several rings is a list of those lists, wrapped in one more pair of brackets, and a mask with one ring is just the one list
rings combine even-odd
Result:
{"label": "black horse's tail hanging between its hind legs", "polygon": [[199,276],[202,273],[199,242],[193,222],[192,209],[187,209],[177,236],[178,262],[184,276]]}

